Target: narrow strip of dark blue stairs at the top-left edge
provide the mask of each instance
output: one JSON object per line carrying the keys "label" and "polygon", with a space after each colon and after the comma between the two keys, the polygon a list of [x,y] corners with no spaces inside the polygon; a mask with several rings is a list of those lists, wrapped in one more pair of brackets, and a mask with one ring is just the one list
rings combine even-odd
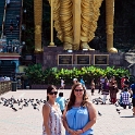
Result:
{"label": "narrow strip of dark blue stairs at the top-left edge", "polygon": [[0,0],[0,36],[1,36],[1,32],[2,32],[4,4],[5,4],[5,0]]}

